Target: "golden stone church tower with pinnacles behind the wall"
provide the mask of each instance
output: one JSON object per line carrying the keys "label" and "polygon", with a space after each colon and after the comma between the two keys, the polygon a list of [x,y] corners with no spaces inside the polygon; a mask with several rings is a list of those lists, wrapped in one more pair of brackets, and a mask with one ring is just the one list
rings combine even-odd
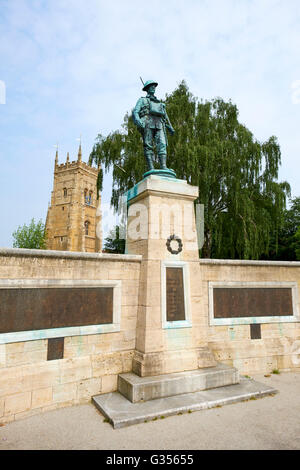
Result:
{"label": "golden stone church tower with pinnacles behind the wall", "polygon": [[97,199],[97,168],[82,161],[58,164],[56,150],[54,184],[46,219],[47,249],[99,252],[102,248],[101,197]]}

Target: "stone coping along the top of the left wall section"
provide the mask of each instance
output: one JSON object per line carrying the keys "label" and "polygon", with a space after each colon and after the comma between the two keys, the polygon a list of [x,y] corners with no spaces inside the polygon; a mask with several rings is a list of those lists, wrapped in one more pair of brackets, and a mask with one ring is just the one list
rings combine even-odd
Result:
{"label": "stone coping along the top of the left wall section", "polygon": [[105,261],[141,262],[142,255],[127,255],[113,253],[86,253],[77,251],[32,250],[27,248],[0,248],[0,256],[28,256],[32,258],[65,258]]}

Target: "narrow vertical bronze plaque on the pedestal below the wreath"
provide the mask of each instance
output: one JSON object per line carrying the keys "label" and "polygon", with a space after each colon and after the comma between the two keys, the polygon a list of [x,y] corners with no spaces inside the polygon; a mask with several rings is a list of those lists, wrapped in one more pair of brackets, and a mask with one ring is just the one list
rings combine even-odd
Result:
{"label": "narrow vertical bronze plaque on the pedestal below the wreath", "polygon": [[167,321],[185,320],[183,269],[166,268]]}

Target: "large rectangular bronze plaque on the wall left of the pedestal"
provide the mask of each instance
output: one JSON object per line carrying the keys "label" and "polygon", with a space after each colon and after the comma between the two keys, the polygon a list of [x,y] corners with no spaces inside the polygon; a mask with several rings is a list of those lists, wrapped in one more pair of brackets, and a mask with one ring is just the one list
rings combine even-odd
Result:
{"label": "large rectangular bronze plaque on the wall left of the pedestal", "polygon": [[112,322],[112,287],[0,289],[0,333]]}

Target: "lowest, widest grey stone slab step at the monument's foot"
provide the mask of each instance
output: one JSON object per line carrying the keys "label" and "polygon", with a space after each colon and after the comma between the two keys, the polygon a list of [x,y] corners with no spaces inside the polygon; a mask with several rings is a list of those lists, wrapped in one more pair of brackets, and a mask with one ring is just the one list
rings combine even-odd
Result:
{"label": "lowest, widest grey stone slab step at the monument's foot", "polygon": [[139,403],[130,402],[119,392],[97,395],[92,401],[114,428],[122,428],[171,415],[262,398],[275,393],[278,391],[273,387],[243,378],[240,383],[234,385]]}

